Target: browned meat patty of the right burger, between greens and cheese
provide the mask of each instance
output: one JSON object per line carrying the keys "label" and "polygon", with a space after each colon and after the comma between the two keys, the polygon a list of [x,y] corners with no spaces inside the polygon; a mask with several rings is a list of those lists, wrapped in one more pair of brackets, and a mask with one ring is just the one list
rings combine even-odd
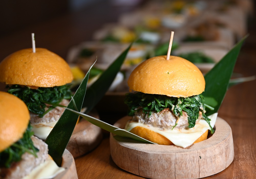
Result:
{"label": "browned meat patty of the right burger, between greens and cheese", "polygon": [[[196,123],[198,123],[201,118],[202,112],[199,111],[199,117],[196,120]],[[156,127],[161,130],[171,130],[175,126],[176,121],[177,125],[175,128],[178,129],[187,128],[189,125],[188,114],[186,112],[182,111],[182,116],[180,116],[178,119],[169,108],[166,108],[158,113],[152,112],[151,116],[148,116],[148,114],[145,115],[141,109],[134,113],[131,121],[144,123],[150,127]]]}

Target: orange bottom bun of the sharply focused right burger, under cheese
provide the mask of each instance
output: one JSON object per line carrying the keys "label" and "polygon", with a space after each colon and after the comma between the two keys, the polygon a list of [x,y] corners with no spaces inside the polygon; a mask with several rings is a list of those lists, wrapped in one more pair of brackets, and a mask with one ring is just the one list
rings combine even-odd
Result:
{"label": "orange bottom bun of the sharply focused right burger, under cheese", "polygon": [[[136,126],[130,132],[159,145],[174,145],[171,141],[169,141],[169,139],[167,139],[163,135],[141,126]],[[203,133],[193,144],[206,140],[207,135],[208,130]]]}

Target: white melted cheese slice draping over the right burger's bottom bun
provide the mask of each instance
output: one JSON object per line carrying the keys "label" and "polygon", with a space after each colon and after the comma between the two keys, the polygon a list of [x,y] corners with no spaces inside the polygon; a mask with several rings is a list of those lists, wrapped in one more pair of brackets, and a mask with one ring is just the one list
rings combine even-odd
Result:
{"label": "white melted cheese slice draping over the right burger's bottom bun", "polygon": [[[211,119],[210,125],[214,127],[218,113],[214,113],[208,118]],[[190,129],[173,129],[173,130],[159,130],[148,127],[145,124],[138,122],[130,122],[127,126],[127,131],[132,130],[136,126],[145,127],[150,129],[156,133],[159,133],[169,139],[174,145],[186,148],[193,144],[206,130],[210,129],[210,126],[204,119],[200,119],[199,123],[195,125],[195,127]]]}

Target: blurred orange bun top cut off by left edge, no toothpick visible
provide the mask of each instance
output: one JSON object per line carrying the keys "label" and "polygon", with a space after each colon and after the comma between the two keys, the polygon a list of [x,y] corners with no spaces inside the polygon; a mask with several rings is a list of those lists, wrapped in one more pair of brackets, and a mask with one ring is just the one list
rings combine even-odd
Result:
{"label": "blurred orange bun top cut off by left edge, no toothpick visible", "polygon": [[28,108],[22,100],[0,91],[0,152],[23,137],[29,119]]}

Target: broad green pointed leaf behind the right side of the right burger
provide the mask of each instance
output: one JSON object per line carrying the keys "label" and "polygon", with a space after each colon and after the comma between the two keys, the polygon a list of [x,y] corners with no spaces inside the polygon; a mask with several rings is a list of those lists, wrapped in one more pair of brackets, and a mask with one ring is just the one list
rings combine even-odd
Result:
{"label": "broad green pointed leaf behind the right side of the right burger", "polygon": [[[202,93],[206,98],[214,98],[217,105],[214,110],[208,110],[206,115],[209,116],[218,112],[220,105],[228,90],[229,80],[232,75],[234,66],[241,46],[244,40],[248,37],[243,37],[227,54],[205,75],[205,91]],[[206,103],[207,104],[207,103]],[[209,104],[208,104],[209,105]]]}

